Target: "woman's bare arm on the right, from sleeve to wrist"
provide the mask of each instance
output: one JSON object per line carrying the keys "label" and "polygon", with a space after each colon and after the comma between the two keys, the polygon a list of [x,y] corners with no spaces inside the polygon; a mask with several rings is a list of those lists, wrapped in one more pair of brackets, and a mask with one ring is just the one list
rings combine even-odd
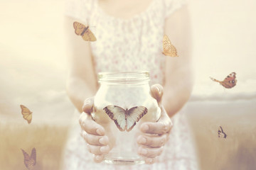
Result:
{"label": "woman's bare arm on the right, from sleeve to wrist", "polygon": [[179,57],[166,57],[166,82],[162,103],[171,118],[191,96],[193,74],[191,66],[191,26],[187,6],[166,19],[166,35],[176,47]]}

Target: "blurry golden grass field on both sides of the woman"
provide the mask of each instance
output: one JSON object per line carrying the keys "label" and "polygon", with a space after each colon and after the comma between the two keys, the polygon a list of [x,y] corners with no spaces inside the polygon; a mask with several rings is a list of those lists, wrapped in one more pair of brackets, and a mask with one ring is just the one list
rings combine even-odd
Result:
{"label": "blurry golden grass field on both sides of the woman", "polygon": [[[254,170],[256,167],[256,101],[197,101],[188,103],[187,117],[201,170]],[[68,122],[68,113],[63,118]],[[36,116],[35,116],[36,119]],[[65,124],[65,125],[64,125]],[[218,127],[228,137],[218,137]],[[0,169],[26,170],[24,149],[36,148],[36,169],[60,169],[68,124],[40,124],[9,118],[0,124]]]}

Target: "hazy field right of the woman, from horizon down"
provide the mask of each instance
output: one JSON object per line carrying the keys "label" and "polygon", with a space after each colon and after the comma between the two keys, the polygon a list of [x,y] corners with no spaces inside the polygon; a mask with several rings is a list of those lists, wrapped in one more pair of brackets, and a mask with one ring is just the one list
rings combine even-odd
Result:
{"label": "hazy field right of the woman, from horizon down", "polygon": [[[198,102],[188,115],[202,170],[255,170],[255,101]],[[191,109],[191,111],[193,108]],[[222,126],[227,138],[218,137]]]}

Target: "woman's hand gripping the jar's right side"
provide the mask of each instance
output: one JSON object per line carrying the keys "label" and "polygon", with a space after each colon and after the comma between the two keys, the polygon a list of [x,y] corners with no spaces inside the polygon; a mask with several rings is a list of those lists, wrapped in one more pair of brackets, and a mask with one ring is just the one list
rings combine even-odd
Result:
{"label": "woman's hand gripping the jar's right side", "polygon": [[171,119],[167,115],[163,106],[161,106],[161,97],[163,96],[163,87],[159,84],[151,86],[151,95],[156,98],[161,108],[161,117],[156,123],[142,123],[140,130],[142,135],[137,137],[139,144],[138,154],[145,157],[146,164],[156,162],[156,157],[164,150],[164,145],[169,139],[169,132],[172,128]]}

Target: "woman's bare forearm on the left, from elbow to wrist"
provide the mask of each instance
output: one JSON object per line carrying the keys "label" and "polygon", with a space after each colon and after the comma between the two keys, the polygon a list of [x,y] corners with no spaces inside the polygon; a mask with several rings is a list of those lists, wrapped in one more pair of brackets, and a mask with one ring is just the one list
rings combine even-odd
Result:
{"label": "woman's bare forearm on the left, from elbow to wrist", "polygon": [[66,91],[75,108],[82,113],[85,99],[95,96],[96,87],[90,86],[80,78],[72,77],[67,81]]}

